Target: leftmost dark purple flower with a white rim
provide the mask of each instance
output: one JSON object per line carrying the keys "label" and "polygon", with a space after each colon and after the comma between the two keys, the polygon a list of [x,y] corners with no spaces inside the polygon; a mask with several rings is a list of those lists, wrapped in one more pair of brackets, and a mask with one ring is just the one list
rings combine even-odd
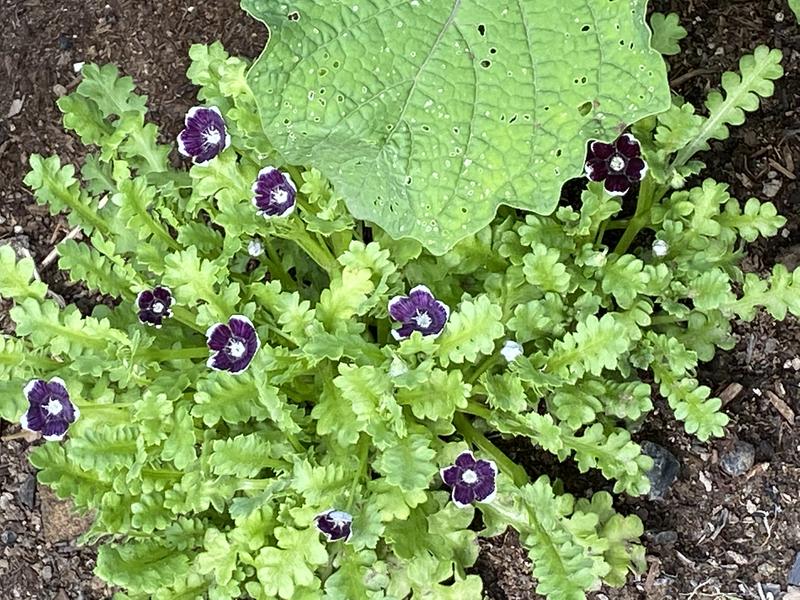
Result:
{"label": "leftmost dark purple flower with a white rim", "polygon": [[49,441],[64,439],[70,424],[81,415],[70,401],[64,381],[58,377],[53,377],[49,383],[34,379],[28,382],[24,392],[30,406],[19,421],[22,428],[41,433]]}

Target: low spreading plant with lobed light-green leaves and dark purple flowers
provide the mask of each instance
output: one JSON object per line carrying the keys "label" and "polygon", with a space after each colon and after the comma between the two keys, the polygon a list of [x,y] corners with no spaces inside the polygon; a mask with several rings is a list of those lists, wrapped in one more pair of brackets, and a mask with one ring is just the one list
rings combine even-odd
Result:
{"label": "low spreading plant with lobed light-green leaves and dark purple flowers", "polygon": [[[642,570],[642,525],[609,491],[575,498],[502,448],[536,446],[641,494],[651,460],[630,432],[653,394],[701,440],[723,433],[695,369],[731,347],[734,317],[800,313],[800,276],[743,275],[742,242],[784,220],[692,179],[694,156],[772,93],[780,54],[745,57],[706,116],[675,99],[630,132],[582,139],[577,173],[602,181],[579,201],[502,206],[443,238],[444,255],[354,219],[342,190],[356,172],[333,186],[317,155],[287,154],[301,130],[266,137],[247,62],[219,44],[191,57],[202,106],[183,164],[132,81],[93,65],[59,106],[96,152],[79,176],[31,157],[37,201],[85,238],[58,246],[59,266],[114,302],[61,309],[32,261],[0,248],[16,329],[0,338],[0,416],[53,440],[31,460],[94,516],[85,539],[102,542],[97,573],[117,597],[477,599],[476,538],[508,527],[552,600]],[[343,164],[366,150],[353,144]],[[509,177],[530,167],[518,155]]]}

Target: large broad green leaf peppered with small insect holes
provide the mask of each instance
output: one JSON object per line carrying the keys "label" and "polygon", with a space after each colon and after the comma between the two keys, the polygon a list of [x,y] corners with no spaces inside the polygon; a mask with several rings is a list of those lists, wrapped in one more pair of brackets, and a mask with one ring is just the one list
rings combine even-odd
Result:
{"label": "large broad green leaf peppered with small insect holes", "polygon": [[441,254],[500,204],[541,214],[590,138],[669,107],[646,0],[242,0],[265,131],[358,218]]}

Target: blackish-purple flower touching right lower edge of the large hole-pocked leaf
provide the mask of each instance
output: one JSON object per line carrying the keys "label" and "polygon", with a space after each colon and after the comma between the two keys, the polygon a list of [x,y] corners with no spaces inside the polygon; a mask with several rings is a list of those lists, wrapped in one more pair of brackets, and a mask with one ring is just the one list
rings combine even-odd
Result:
{"label": "blackish-purple flower touching right lower edge of the large hole-pocked leaf", "polygon": [[622,196],[634,183],[644,179],[647,163],[642,148],[630,133],[623,133],[611,144],[592,142],[586,158],[586,176],[602,181],[612,196]]}

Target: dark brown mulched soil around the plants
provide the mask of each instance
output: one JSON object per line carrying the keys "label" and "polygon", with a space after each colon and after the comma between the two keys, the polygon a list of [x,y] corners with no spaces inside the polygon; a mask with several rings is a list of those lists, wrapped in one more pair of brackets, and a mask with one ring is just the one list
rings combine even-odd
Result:
{"label": "dark brown mulched soil around the plants", "polygon": [[[698,104],[724,70],[760,43],[785,53],[786,77],[764,109],[715,144],[706,155],[707,174],[731,183],[734,195],[771,198],[789,219],[782,235],[748,248],[749,270],[765,271],[776,261],[800,264],[800,48],[798,28],[785,0],[672,0],[654,2],[680,13],[689,30],[671,62],[674,89]],[[74,88],[78,62],[114,62],[150,96],[151,118],[174,136],[194,89],[183,73],[191,43],[222,39],[234,53],[253,56],[263,30],[235,0],[136,2],[134,0],[0,0],[0,238],[16,237],[41,263],[66,233],[63,219],[37,207],[21,180],[32,152],[79,160],[80,145],[64,134],[55,99]],[[93,298],[71,286],[53,266],[42,277],[67,301],[84,308]],[[7,319],[2,315],[2,321]],[[687,436],[663,406],[637,439],[668,448],[680,461],[677,482],[660,501],[628,498],[626,512],[641,516],[647,529],[648,573],[623,591],[597,599],[781,598],[800,550],[800,324],[758,318],[736,326],[739,343],[702,371],[715,392],[739,393],[726,406],[728,437],[700,444]],[[733,387],[732,387],[733,386]],[[777,400],[776,400],[777,398]],[[789,409],[787,411],[787,408]],[[0,433],[15,426],[0,423]],[[720,458],[736,441],[755,448],[743,475],[730,476]],[[110,593],[93,578],[91,549],[75,546],[82,522],[37,487],[27,466],[27,444],[0,445],[0,598],[99,599]],[[569,491],[584,494],[602,485],[569,465],[556,467],[541,454],[509,448],[531,472],[557,472]],[[597,489],[597,488],[595,488]],[[483,544],[477,565],[490,597],[535,598],[524,552],[506,536]],[[790,594],[787,599],[791,597]],[[794,596],[796,600],[800,596]]]}

